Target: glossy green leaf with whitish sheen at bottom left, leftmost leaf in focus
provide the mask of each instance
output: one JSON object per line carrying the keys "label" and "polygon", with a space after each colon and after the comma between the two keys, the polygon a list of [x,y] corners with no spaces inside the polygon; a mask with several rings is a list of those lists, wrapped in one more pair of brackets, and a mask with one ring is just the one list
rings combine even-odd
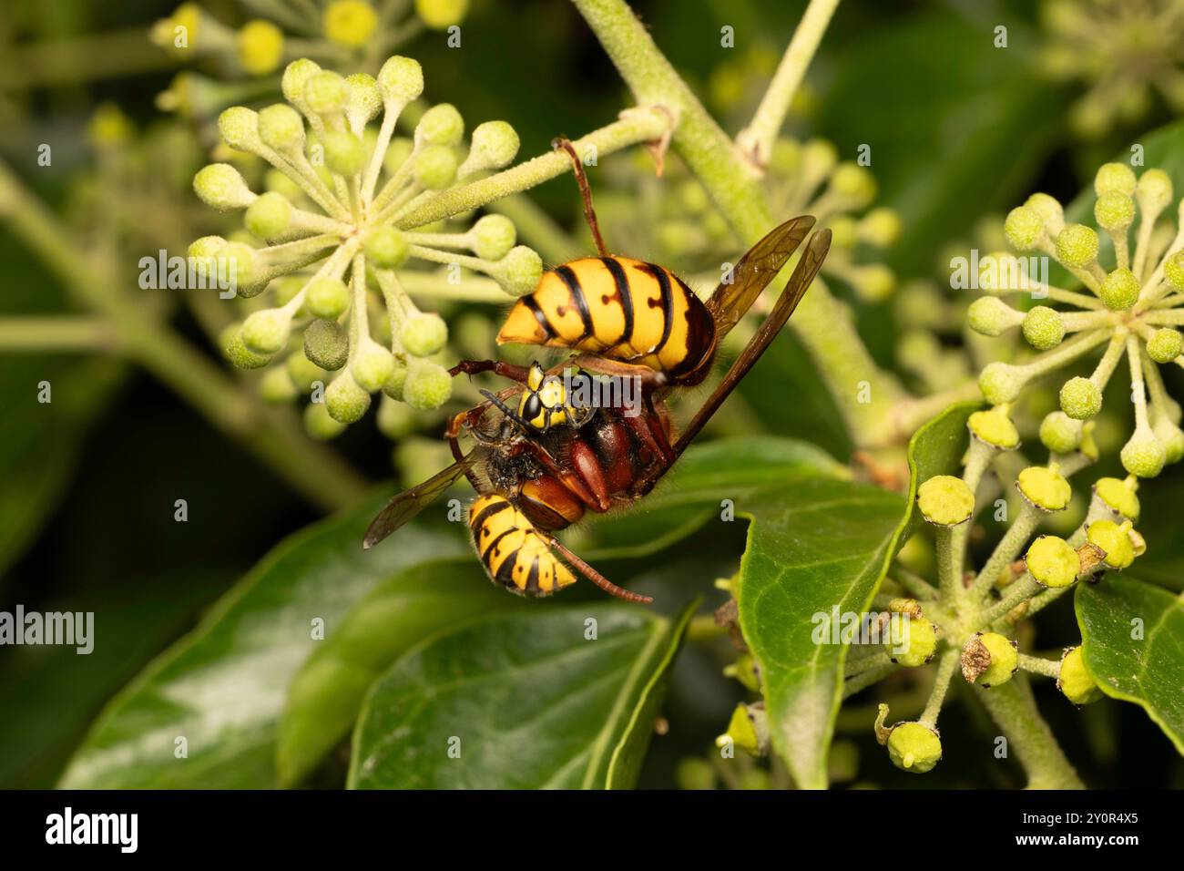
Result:
{"label": "glossy green leaf with whitish sheen at bottom left, leftmost leaf in focus", "polygon": [[[363,552],[380,501],[282,542],[201,625],[157,658],[98,718],[75,754],[67,788],[266,788],[289,683],[350,606],[410,566],[468,551],[462,536],[400,531]],[[174,756],[185,738],[187,757]]]}

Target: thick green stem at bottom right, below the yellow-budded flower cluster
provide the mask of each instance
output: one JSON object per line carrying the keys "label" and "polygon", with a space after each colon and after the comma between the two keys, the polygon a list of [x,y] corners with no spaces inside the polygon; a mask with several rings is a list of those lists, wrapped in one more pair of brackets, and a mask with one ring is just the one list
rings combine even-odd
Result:
{"label": "thick green stem at bottom right, below the yellow-budded flower cluster", "polygon": [[1006,684],[979,690],[976,696],[1019,757],[1019,764],[1028,773],[1029,789],[1085,789],[1041,717],[1028,675],[1016,674]]}

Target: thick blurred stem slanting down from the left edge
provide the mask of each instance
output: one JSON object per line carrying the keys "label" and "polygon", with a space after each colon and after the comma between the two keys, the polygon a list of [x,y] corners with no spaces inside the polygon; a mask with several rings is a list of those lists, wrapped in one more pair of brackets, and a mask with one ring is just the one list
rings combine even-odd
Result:
{"label": "thick blurred stem slanting down from the left edge", "polygon": [[208,358],[122,293],[110,268],[83,246],[0,164],[0,217],[63,284],[114,331],[128,357],[270,466],[311,502],[336,510],[354,502],[365,482],[333,451],[311,442],[295,415],[264,409]]}

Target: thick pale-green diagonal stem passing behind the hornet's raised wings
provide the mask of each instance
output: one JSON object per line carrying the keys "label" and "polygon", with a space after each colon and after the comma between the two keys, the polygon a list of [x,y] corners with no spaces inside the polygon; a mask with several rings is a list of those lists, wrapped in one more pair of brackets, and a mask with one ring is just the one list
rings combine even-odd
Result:
{"label": "thick pale-green diagonal stem passing behind the hornet's raised wings", "polygon": [[[732,140],[703,108],[624,0],[572,0],[642,105],[676,119],[673,145],[725,219],[747,244],[774,225],[764,191]],[[787,216],[779,216],[781,218]],[[907,393],[871,359],[847,306],[816,280],[790,327],[806,347],[843,412],[852,441],[876,447],[900,441],[894,405]]]}

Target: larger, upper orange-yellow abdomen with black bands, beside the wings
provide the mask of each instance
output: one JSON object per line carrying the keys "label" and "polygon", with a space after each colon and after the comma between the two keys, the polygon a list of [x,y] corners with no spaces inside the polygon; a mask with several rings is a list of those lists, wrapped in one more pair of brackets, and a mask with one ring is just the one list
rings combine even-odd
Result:
{"label": "larger, upper orange-yellow abdomen with black bands, beside the wings", "polygon": [[510,309],[497,341],[585,351],[677,376],[710,357],[715,322],[669,269],[585,257],[543,273]]}

